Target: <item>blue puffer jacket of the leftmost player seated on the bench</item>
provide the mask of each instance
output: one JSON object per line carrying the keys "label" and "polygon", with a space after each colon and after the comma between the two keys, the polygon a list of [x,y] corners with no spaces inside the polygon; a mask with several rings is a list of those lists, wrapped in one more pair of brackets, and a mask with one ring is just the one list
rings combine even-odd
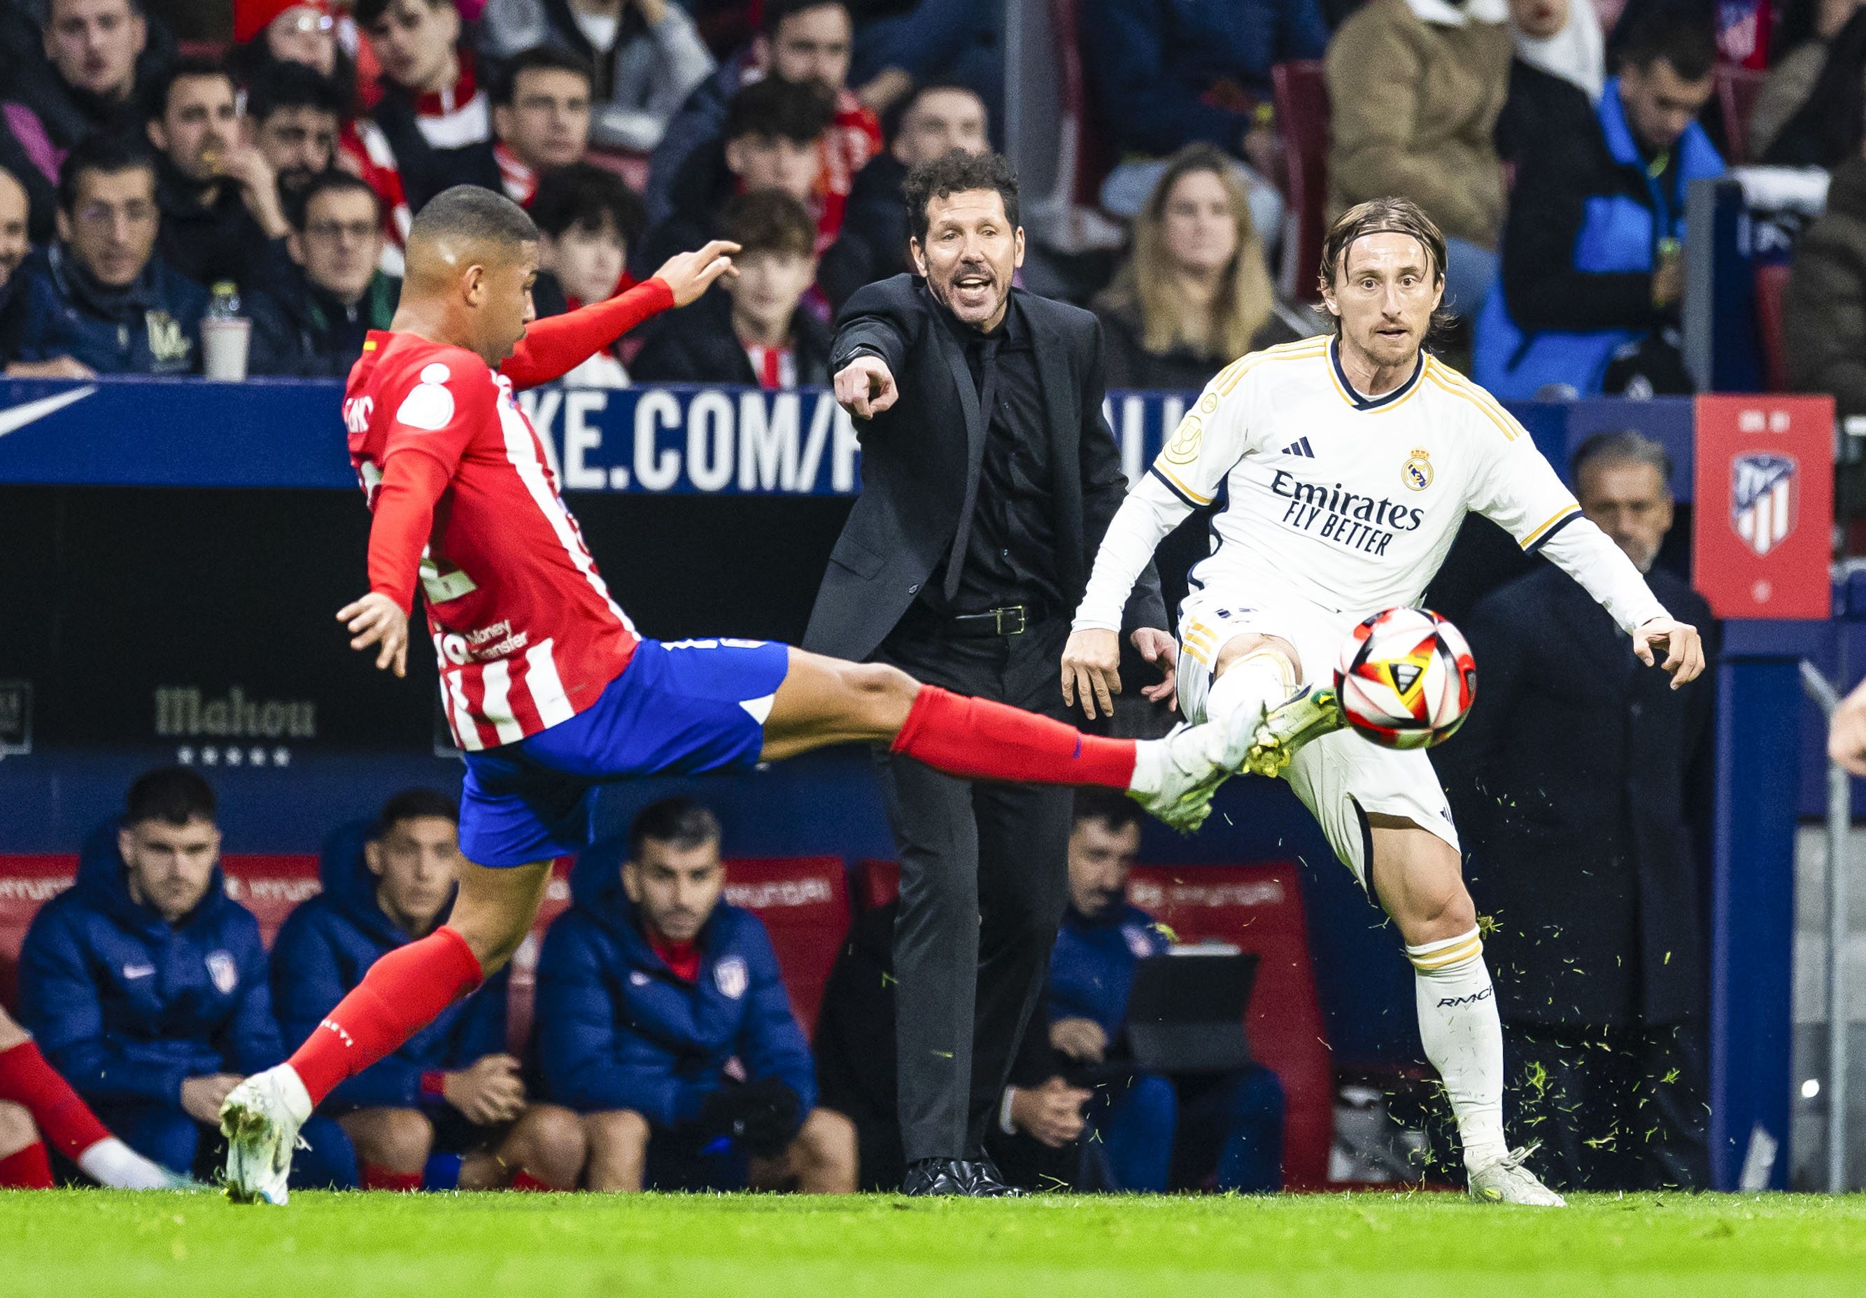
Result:
{"label": "blue puffer jacket of the leftmost player seated on the bench", "polygon": [[181,1106],[181,1084],[284,1057],[259,921],[220,869],[170,927],[131,901],[118,826],[84,845],[78,882],[39,910],[21,951],[21,1022],[88,1100]]}

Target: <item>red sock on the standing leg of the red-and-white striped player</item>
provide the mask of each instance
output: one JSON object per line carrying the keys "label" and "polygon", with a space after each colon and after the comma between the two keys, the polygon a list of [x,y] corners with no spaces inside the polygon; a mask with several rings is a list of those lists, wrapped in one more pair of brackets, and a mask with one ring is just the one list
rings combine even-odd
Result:
{"label": "red sock on the standing leg of the red-and-white striped player", "polygon": [[394,1054],[481,977],[466,938],[442,925],[371,964],[287,1063],[312,1104],[323,1104],[343,1078]]}

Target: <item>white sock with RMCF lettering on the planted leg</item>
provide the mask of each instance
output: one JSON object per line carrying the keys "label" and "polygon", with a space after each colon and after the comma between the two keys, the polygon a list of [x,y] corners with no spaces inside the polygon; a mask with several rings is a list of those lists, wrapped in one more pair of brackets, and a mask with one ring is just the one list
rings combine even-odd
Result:
{"label": "white sock with RMCF lettering on the planted leg", "polygon": [[1465,1166],[1497,1162],[1504,1143],[1504,1029],[1497,1016],[1483,940],[1472,927],[1455,938],[1407,947],[1418,992],[1418,1035],[1457,1117]]}

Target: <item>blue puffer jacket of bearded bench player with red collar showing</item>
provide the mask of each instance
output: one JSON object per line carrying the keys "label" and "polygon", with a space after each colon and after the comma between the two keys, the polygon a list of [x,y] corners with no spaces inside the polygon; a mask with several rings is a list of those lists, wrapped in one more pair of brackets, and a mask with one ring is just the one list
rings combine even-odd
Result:
{"label": "blue puffer jacket of bearded bench player with red collar showing", "polygon": [[737,1056],[748,1082],[782,1078],[810,1112],[815,1067],[758,916],[720,903],[700,929],[700,977],[687,983],[642,936],[614,850],[578,858],[571,897],[537,960],[545,1098],[679,1126]]}

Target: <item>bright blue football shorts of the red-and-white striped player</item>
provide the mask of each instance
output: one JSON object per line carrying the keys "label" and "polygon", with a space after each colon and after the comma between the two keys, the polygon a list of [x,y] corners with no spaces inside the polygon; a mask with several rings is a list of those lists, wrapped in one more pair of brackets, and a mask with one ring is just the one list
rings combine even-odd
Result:
{"label": "bright blue football shorts of the red-and-white striped player", "polygon": [[787,671],[773,640],[644,640],[571,720],[465,753],[461,852],[493,869],[569,856],[590,845],[599,785],[750,770]]}

